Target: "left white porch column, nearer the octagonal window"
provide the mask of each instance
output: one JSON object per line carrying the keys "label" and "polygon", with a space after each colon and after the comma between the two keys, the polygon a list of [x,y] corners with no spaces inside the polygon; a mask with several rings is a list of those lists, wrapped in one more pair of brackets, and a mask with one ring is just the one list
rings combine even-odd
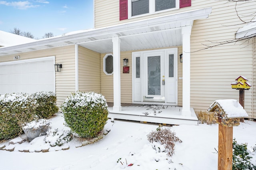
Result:
{"label": "left white porch column, nearer the octagonal window", "polygon": [[120,83],[120,38],[112,38],[113,42],[113,88],[114,106],[113,111],[121,111],[121,83]]}

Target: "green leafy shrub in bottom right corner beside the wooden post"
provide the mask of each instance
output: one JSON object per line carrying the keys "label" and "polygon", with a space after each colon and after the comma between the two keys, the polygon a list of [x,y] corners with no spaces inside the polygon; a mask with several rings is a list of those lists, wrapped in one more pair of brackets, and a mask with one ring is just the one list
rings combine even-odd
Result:
{"label": "green leafy shrub in bottom right corner beside the wooden post", "polygon": [[233,139],[233,163],[232,170],[255,170],[256,165],[250,161],[249,150],[247,143],[237,144],[236,139]]}

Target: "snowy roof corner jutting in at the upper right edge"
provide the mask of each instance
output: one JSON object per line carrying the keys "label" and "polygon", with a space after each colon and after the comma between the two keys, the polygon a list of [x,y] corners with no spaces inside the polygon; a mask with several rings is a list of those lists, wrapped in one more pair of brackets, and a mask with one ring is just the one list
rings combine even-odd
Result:
{"label": "snowy roof corner jutting in at the upper right edge", "polygon": [[250,38],[256,36],[256,18],[252,22],[246,24],[244,27],[239,28],[236,32],[236,39]]}

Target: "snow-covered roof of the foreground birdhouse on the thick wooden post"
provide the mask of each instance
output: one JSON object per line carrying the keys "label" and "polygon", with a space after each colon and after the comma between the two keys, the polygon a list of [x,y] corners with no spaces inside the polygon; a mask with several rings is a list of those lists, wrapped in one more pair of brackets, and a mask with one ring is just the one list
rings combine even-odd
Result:
{"label": "snow-covered roof of the foreground birdhouse on the thick wooden post", "polygon": [[216,100],[214,101],[214,103],[212,103],[208,111],[210,111],[216,105],[220,105],[228,118],[248,117],[248,114],[246,113],[244,108],[240,105],[238,101],[234,99]]}

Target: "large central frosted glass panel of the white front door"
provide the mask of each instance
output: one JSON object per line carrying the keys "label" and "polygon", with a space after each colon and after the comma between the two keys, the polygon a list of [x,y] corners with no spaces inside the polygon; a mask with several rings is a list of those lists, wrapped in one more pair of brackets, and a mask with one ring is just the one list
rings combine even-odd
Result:
{"label": "large central frosted glass panel of the white front door", "polygon": [[160,56],[148,57],[148,95],[161,95]]}

